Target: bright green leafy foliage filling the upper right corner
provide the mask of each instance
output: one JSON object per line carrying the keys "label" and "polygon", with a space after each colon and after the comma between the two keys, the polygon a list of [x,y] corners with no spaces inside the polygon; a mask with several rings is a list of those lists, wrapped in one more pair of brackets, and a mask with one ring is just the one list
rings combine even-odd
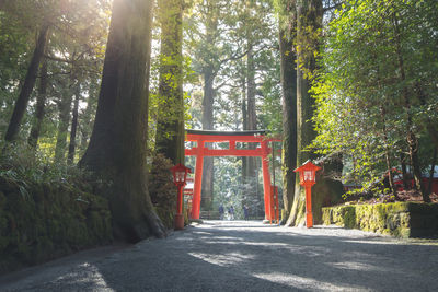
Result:
{"label": "bright green leafy foliage filling the upper right corner", "polygon": [[343,153],[348,179],[372,184],[388,170],[387,154],[400,163],[407,131],[425,135],[427,119],[438,125],[437,9],[436,1],[347,1],[326,27],[312,87],[313,145]]}

